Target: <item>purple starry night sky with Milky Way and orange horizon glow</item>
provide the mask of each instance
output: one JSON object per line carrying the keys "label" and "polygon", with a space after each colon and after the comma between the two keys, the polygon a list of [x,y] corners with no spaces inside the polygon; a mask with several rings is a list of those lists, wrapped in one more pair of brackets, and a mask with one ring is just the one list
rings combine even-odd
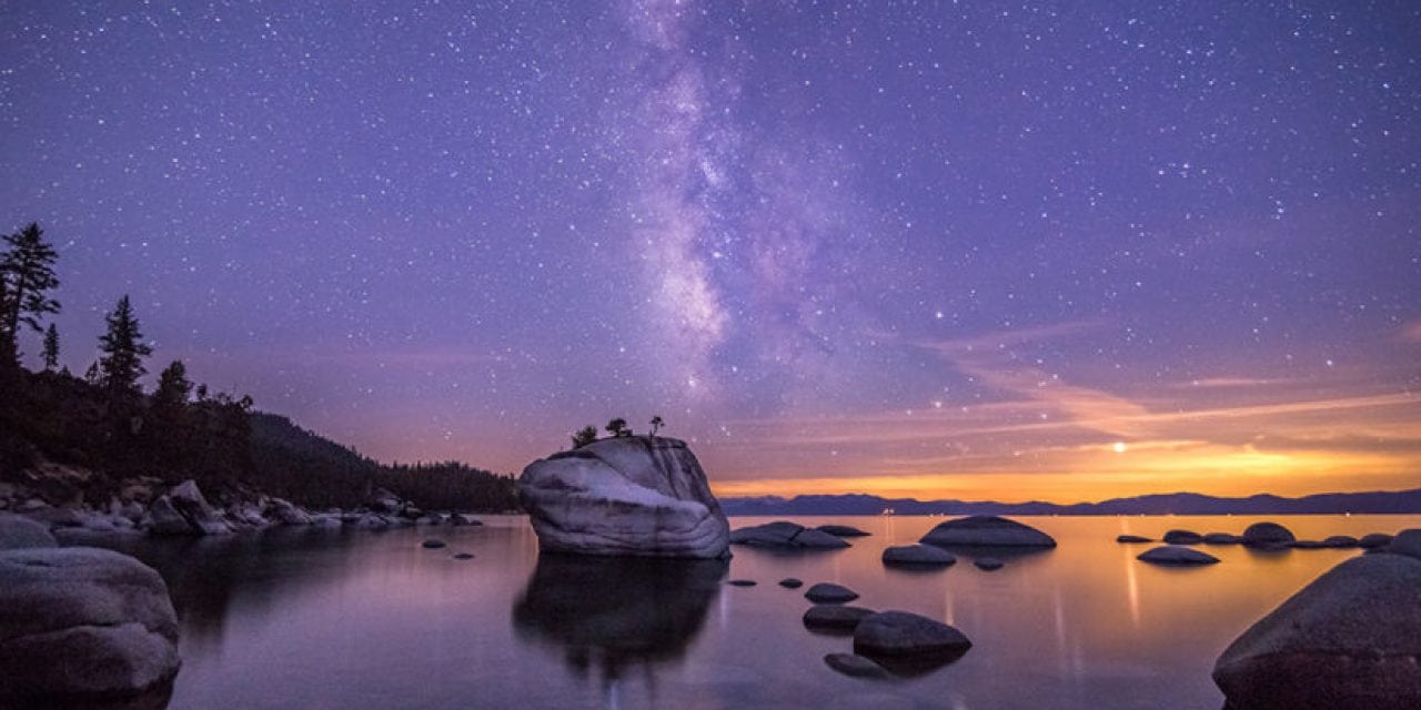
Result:
{"label": "purple starry night sky with Milky Way and orange horizon glow", "polygon": [[[720,494],[1421,486],[1421,4],[0,1],[61,361]],[[21,348],[37,366],[40,341]]]}

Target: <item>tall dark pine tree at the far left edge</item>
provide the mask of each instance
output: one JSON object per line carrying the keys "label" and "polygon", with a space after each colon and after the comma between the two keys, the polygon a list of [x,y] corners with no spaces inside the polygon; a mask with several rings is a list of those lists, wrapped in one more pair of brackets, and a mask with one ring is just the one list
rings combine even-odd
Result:
{"label": "tall dark pine tree at the far left edge", "polygon": [[48,291],[60,285],[54,275],[58,253],[44,241],[38,224],[6,234],[10,248],[0,257],[0,368],[20,365],[20,327],[40,332],[45,314],[60,312],[60,302]]}

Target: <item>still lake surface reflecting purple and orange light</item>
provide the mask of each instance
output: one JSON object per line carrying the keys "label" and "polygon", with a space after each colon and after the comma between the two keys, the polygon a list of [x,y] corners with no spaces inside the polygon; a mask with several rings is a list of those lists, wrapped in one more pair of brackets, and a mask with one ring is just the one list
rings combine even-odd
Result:
{"label": "still lake surface reflecting purple and orange light", "polygon": [[[951,707],[1212,709],[1209,673],[1243,629],[1356,550],[1201,547],[1205,568],[1148,565],[1171,528],[1242,532],[1235,517],[1017,517],[1056,550],[985,572],[884,568],[882,548],[945,518],[810,517],[872,535],[848,550],[733,547],[729,564],[539,558],[523,517],[475,528],[274,530],[101,542],[158,568],[182,621],[171,709]],[[730,518],[730,527],[772,518]],[[1297,537],[1397,532],[1421,515],[1275,515]],[[426,538],[448,541],[423,550]],[[97,542],[88,542],[97,544]],[[473,559],[455,559],[472,552]],[[972,639],[919,677],[841,676],[851,639],[804,629],[796,577],[855,589],[855,605],[945,621]],[[726,585],[755,579],[756,586]]]}

